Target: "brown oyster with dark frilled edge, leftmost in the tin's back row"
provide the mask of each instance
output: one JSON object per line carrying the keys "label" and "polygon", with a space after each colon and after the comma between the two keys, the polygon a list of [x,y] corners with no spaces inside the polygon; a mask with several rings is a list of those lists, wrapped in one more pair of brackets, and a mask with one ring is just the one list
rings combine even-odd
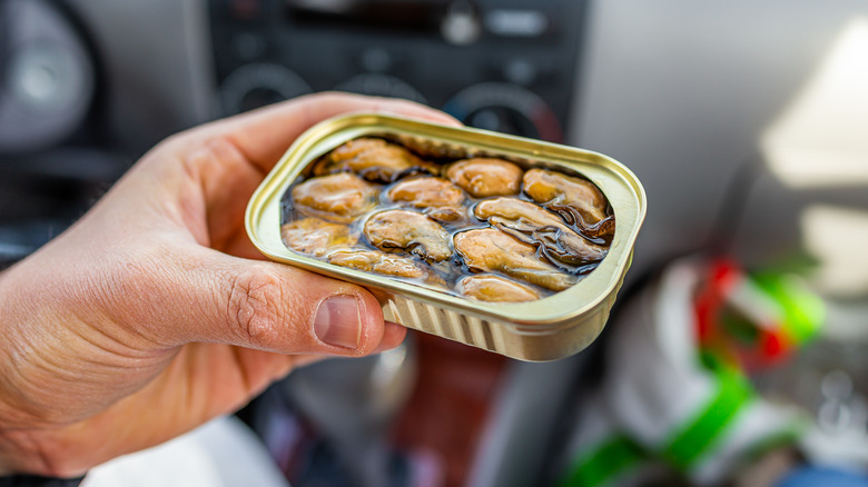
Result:
{"label": "brown oyster with dark frilled edge, leftmost in the tin's back row", "polygon": [[437,168],[402,146],[363,137],[331,151],[314,167],[314,176],[351,171],[368,181],[392,182],[414,172],[436,175]]}

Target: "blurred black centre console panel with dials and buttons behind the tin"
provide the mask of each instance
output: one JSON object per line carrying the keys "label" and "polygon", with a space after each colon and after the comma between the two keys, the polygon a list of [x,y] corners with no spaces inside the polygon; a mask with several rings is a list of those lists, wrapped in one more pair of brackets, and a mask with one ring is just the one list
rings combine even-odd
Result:
{"label": "blurred black centre console panel with dials and buttons behind the tin", "polygon": [[210,2],[220,112],[343,90],[562,141],[582,14],[568,0]]}

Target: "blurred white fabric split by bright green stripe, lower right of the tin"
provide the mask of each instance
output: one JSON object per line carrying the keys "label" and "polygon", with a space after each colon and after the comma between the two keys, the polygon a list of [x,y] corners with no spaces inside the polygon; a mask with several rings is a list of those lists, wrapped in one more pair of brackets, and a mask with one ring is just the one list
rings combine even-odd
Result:
{"label": "blurred white fabric split by bright green stripe, lower right of the tin", "polygon": [[[703,271],[701,261],[677,262],[612,327],[603,400],[620,429],[649,451],[665,450],[719,390],[694,336],[692,304]],[[719,483],[765,440],[803,426],[795,408],[751,399],[685,474],[698,485]]]}

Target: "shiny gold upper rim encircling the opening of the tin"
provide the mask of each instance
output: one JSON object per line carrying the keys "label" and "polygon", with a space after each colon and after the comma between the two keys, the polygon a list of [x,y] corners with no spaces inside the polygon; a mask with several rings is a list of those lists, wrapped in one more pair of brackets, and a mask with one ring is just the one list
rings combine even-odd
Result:
{"label": "shiny gold upper rim encircling the opening of the tin", "polygon": [[[279,237],[279,199],[295,176],[315,157],[344,141],[388,131],[472,147],[490,153],[521,156],[569,167],[594,182],[615,211],[615,235],[606,257],[588,276],[563,291],[526,302],[485,302],[398,281],[387,276],[334,266],[288,249]],[[645,192],[622,163],[599,152],[468,127],[452,127],[383,113],[352,113],[324,120],[299,136],[254,192],[245,227],[254,246],[272,260],[362,285],[388,299],[391,294],[523,328],[556,329],[605,304],[620,287],[645,217]],[[619,231],[620,230],[620,231]],[[385,291],[385,296],[382,292]]]}

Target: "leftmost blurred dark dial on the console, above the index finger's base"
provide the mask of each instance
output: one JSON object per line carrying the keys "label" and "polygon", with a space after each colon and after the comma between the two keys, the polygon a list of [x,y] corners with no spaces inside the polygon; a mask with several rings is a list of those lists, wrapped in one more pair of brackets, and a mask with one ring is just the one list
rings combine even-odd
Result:
{"label": "leftmost blurred dark dial on the console, above the index finger's base", "polygon": [[235,115],[312,92],[294,71],[273,63],[245,64],[220,87],[220,111]]}

